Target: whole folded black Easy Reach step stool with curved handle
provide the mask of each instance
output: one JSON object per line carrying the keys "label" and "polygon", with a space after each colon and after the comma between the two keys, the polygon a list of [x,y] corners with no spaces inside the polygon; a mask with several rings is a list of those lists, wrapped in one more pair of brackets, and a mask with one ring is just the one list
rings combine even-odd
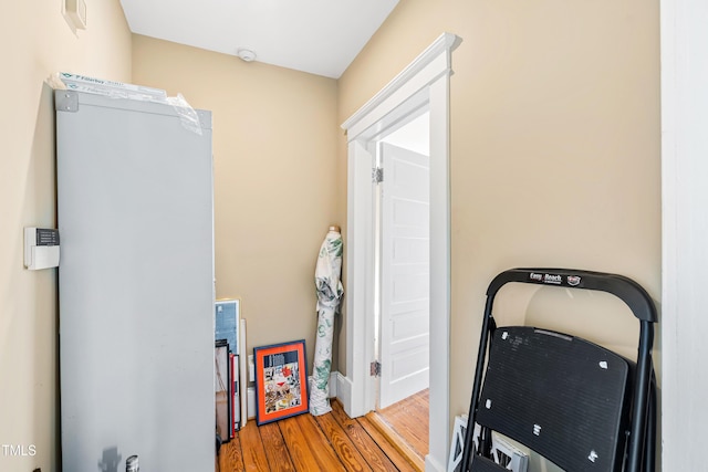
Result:
{"label": "whole folded black Easy Reach step stool with curved handle", "polygon": [[[576,336],[531,326],[497,327],[493,301],[511,282],[621,298],[641,325],[636,363]],[[496,431],[566,471],[654,472],[656,322],[649,295],[622,275],[564,269],[514,269],[497,275],[487,290],[469,410],[481,438],[476,448],[473,428],[467,429],[461,470],[506,470],[489,459]]]}

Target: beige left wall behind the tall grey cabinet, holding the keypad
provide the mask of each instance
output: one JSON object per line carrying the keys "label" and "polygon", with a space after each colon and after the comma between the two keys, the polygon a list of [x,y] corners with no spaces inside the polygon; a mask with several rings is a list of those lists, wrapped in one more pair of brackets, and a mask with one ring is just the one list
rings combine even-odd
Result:
{"label": "beige left wall behind the tall grey cabinet, holding the keypad", "polygon": [[118,0],[90,6],[74,34],[61,2],[12,2],[0,31],[0,470],[59,470],[56,270],[23,266],[23,228],[56,227],[51,73],[131,80],[131,35]]}

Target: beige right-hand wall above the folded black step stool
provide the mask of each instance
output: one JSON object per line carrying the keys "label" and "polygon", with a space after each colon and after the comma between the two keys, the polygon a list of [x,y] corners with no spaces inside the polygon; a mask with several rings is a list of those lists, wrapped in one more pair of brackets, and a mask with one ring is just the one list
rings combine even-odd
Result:
{"label": "beige right-hand wall above the folded black step stool", "polygon": [[[659,298],[658,15],[641,0],[402,0],[341,77],[339,123],[441,32],[462,39],[450,96],[451,415],[469,406],[485,291],[498,272],[616,272]],[[337,159],[343,183],[344,137]],[[539,319],[549,296],[566,295],[524,296]],[[595,323],[563,318],[580,334]],[[606,324],[626,336],[589,337],[636,345],[634,326]]]}

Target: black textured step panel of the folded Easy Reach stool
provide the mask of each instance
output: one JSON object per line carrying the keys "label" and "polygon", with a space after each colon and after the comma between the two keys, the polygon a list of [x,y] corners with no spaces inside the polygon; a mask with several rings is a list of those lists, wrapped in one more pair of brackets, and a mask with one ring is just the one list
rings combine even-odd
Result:
{"label": "black textured step panel of the folded Easy Reach stool", "polygon": [[564,470],[622,470],[632,368],[579,337],[498,327],[476,420]]}

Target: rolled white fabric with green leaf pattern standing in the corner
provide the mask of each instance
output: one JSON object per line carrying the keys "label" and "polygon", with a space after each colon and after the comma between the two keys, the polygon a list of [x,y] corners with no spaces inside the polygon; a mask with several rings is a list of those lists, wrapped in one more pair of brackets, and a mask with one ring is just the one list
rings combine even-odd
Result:
{"label": "rolled white fabric with green leaf pattern standing in the corner", "polygon": [[310,376],[310,413],[324,415],[330,407],[330,373],[332,370],[332,342],[334,315],[340,312],[344,295],[342,286],[342,234],[339,227],[330,227],[317,254],[314,283],[317,294],[317,332],[314,366]]}

